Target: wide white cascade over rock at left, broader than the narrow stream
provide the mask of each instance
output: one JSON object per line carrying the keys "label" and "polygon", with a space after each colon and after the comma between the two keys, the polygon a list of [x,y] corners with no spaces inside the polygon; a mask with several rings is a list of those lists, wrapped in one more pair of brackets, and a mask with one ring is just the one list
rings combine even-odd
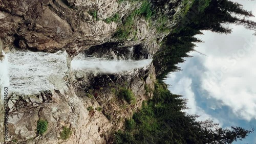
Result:
{"label": "wide white cascade over rock at left, broader than the narrow stream", "polygon": [[68,73],[67,53],[9,52],[7,54],[10,92],[34,94],[44,90],[60,89]]}

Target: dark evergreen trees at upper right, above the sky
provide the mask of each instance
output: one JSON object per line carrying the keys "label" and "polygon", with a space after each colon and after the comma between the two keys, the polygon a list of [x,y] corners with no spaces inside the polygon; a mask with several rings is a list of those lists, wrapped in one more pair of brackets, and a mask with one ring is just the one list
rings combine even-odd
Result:
{"label": "dark evergreen trees at upper right, above the sky", "polygon": [[[195,42],[202,42],[195,38],[202,34],[202,30],[217,33],[231,33],[231,29],[224,27],[223,23],[242,25],[249,30],[256,30],[256,22],[247,20],[253,16],[251,12],[243,10],[241,5],[228,0],[198,0],[188,3],[180,15],[180,22],[176,29],[163,40],[160,50],[154,55],[153,63],[156,67],[158,78],[165,78],[172,71],[181,70],[176,66],[184,62],[190,51],[196,51]],[[239,18],[238,16],[242,16]]]}

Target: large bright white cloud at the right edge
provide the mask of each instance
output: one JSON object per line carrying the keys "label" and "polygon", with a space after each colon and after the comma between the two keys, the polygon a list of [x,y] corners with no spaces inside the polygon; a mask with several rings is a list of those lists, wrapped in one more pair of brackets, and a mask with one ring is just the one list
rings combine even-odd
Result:
{"label": "large bright white cloud at the right edge", "polygon": [[209,92],[208,97],[221,101],[234,114],[250,121],[256,119],[256,37],[240,26],[233,28],[230,35],[206,32],[199,36],[205,43],[198,44],[197,50],[207,57],[193,55],[200,57],[207,69],[201,83]]}

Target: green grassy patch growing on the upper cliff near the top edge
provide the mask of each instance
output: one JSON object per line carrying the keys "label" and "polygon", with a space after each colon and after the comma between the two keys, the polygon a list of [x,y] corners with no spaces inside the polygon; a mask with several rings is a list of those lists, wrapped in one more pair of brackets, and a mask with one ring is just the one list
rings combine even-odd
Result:
{"label": "green grassy patch growing on the upper cliff near the top edge", "polygon": [[120,40],[124,40],[128,38],[130,34],[133,34],[135,38],[137,32],[134,29],[134,19],[137,16],[144,16],[146,20],[149,20],[153,16],[150,2],[147,0],[142,1],[141,7],[134,10],[129,16],[126,17],[122,26],[117,29],[114,36]]}

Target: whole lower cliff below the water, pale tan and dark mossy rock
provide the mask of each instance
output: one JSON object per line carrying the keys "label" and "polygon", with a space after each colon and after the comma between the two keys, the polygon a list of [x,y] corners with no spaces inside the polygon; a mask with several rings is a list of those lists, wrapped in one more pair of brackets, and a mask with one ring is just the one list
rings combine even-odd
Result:
{"label": "whole lower cliff below the water, pale tan and dark mossy rock", "polygon": [[[125,119],[140,109],[142,102],[153,97],[154,67],[137,69],[122,75],[88,77],[88,87],[80,85],[84,79],[76,79],[68,89],[43,91],[38,94],[12,93],[8,100],[10,142],[18,143],[108,143],[111,132],[122,129]],[[124,85],[124,82],[125,85]],[[136,103],[128,104],[113,92],[115,86],[129,87],[135,94]],[[145,90],[145,85],[150,91]],[[91,89],[91,90],[90,90]],[[88,92],[90,91],[90,92]],[[92,94],[88,97],[87,93]],[[88,107],[94,110],[88,110]],[[95,108],[101,107],[102,111]],[[48,121],[44,135],[37,134],[37,121]],[[69,127],[69,139],[60,139],[63,127]]]}

